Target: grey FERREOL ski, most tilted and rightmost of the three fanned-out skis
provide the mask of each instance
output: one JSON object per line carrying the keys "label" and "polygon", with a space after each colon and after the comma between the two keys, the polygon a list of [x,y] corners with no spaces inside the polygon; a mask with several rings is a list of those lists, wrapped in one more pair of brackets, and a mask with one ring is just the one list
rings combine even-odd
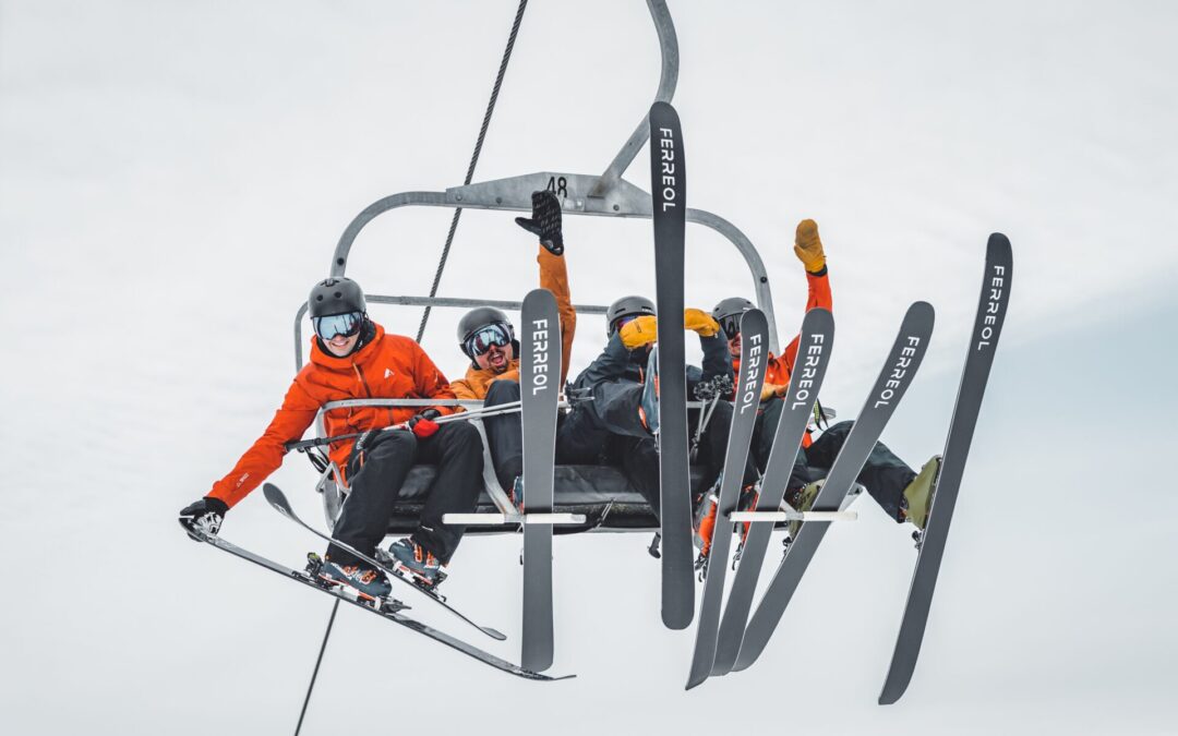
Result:
{"label": "grey FERREOL ski, most tilted and rightmost of the three fanned-out skis", "polygon": [[[879,442],[884,427],[920,369],[933,332],[933,307],[927,301],[916,301],[908,307],[887,363],[835,458],[822,490],[814,499],[814,511],[838,511],[842,505],[867,462],[867,456]],[[734,670],[748,668],[765,651],[829,525],[830,522],[802,523],[749,619]]]}

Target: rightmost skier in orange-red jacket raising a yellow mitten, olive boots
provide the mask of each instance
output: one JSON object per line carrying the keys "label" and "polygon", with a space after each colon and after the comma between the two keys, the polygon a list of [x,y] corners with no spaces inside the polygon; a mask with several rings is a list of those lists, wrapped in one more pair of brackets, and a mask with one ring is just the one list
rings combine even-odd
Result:
{"label": "rightmost skier in orange-red jacket raising a yellow mitten, olive boots", "polygon": [[[826,253],[818,233],[818,224],[814,220],[807,219],[798,224],[794,253],[802,261],[806,268],[806,280],[809,284],[807,311],[815,307],[832,309]],[[736,371],[740,370],[740,316],[750,309],[753,309],[753,304],[747,299],[732,297],[717,304],[712,313],[729,337],[728,349]],[[750,449],[761,471],[765,470],[769,460],[769,452],[773,450],[773,437],[776,433],[783,406],[781,397],[789,387],[789,376],[798,357],[800,337],[794,337],[780,357],[769,356],[765,389],[761,392],[761,411]],[[810,510],[822,479],[834,464],[852,426],[854,426],[854,422],[840,422],[813,440],[807,432],[786,486],[786,500],[794,509],[799,511]],[[876,443],[859,473],[858,480],[867,488],[867,491],[888,516],[899,523],[909,520],[918,529],[924,529],[928,515],[929,495],[939,466],[940,457],[933,457],[918,473],[888,450],[884,443]],[[742,509],[750,509],[755,504],[755,495],[749,493],[741,499]],[[712,513],[714,515],[714,512],[713,509]],[[796,533],[800,524],[800,522],[792,522],[790,532]]]}

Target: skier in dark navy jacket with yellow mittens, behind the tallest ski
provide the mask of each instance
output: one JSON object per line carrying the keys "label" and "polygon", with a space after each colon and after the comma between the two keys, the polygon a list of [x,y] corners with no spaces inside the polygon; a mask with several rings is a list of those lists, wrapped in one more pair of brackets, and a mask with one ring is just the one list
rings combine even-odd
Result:
{"label": "skier in dark navy jacket with yellow mittens, behind the tallest ski", "polygon": [[[607,320],[605,349],[573,383],[573,409],[557,429],[557,462],[621,465],[659,516],[657,377],[649,362],[657,340],[655,305],[644,297],[623,297],[609,306]],[[687,369],[689,393],[728,394],[733,371],[720,325],[702,310],[687,309],[683,327],[699,334],[703,350],[702,370]],[[732,415],[730,404],[717,402],[700,438],[706,488],[722,470]],[[755,469],[746,468],[746,480],[755,478]]]}

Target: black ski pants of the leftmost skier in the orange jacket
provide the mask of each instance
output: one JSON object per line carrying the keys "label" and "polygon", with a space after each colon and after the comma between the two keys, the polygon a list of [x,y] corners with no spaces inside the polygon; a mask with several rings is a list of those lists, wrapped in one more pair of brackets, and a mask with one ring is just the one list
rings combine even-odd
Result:
{"label": "black ski pants of the leftmost skier in the orange jacket", "polygon": [[[470,513],[483,489],[483,444],[478,430],[465,422],[450,422],[424,439],[412,432],[388,431],[348,460],[351,491],[336,522],[332,537],[365,555],[384,539],[393,505],[415,463],[436,464],[437,477],[412,539],[443,564],[450,561],[463,526],[443,524],[443,513]],[[331,545],[327,557],[344,565],[363,564]]]}

